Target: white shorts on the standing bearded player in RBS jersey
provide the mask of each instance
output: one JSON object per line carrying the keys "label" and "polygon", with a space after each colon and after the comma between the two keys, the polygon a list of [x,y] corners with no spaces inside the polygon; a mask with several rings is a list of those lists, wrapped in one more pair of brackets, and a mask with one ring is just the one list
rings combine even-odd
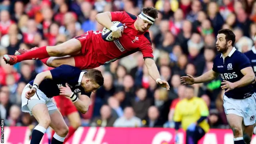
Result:
{"label": "white shorts on the standing bearded player in RBS jersey", "polygon": [[233,98],[228,98],[224,95],[223,97],[223,106],[226,115],[227,114],[236,114],[243,117],[244,125],[250,126],[255,124],[256,116],[256,94],[252,94],[251,97],[237,100]]}

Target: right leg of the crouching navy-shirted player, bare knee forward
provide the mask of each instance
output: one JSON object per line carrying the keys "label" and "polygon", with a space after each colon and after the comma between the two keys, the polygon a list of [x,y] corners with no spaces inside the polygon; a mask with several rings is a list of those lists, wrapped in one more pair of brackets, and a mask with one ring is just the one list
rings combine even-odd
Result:
{"label": "right leg of the crouching navy-shirted player, bare knee forward", "polygon": [[50,111],[49,113],[51,118],[50,127],[55,132],[52,138],[52,144],[55,144],[55,143],[63,144],[64,139],[68,134],[68,126],[66,125],[59,110],[52,110],[52,112]]}

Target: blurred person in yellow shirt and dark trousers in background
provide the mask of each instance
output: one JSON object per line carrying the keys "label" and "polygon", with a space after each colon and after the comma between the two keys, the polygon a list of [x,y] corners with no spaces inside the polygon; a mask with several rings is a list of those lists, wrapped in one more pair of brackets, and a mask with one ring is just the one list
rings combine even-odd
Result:
{"label": "blurred person in yellow shirt and dark trousers in background", "polygon": [[198,141],[209,131],[207,122],[209,110],[202,98],[194,96],[194,88],[186,86],[185,98],[178,102],[174,110],[176,144],[179,144],[178,129],[180,124],[186,131],[186,144],[198,144]]}

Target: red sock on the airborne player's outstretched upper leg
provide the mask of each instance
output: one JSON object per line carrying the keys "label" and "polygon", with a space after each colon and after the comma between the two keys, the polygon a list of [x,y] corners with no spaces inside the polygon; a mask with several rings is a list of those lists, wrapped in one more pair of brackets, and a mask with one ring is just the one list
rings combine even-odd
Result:
{"label": "red sock on the airborne player's outstretched upper leg", "polygon": [[17,62],[21,62],[23,60],[41,60],[44,58],[50,57],[48,52],[46,51],[46,46],[36,48],[35,50],[30,50],[25,54],[17,56]]}

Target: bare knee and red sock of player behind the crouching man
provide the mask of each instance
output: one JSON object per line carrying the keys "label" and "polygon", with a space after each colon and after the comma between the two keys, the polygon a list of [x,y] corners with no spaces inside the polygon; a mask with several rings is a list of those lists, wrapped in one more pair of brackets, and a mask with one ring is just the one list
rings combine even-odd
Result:
{"label": "bare knee and red sock of player behind the crouching man", "polygon": [[68,141],[68,139],[75,133],[75,131],[81,126],[81,118],[78,112],[72,112],[68,114],[68,120],[70,126],[68,127],[68,135],[66,136],[64,143]]}

